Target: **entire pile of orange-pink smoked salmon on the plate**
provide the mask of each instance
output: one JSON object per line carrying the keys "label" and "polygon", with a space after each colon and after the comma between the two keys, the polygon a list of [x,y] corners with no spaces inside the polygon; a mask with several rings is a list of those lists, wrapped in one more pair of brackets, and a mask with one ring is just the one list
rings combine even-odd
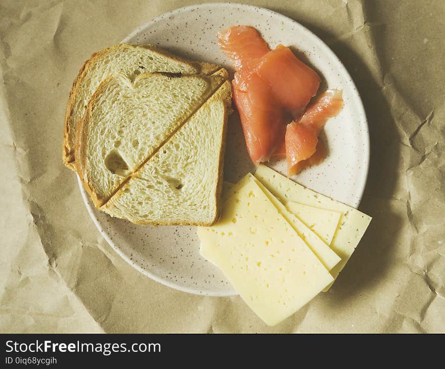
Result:
{"label": "entire pile of orange-pink smoked salmon on the plate", "polygon": [[289,48],[270,50],[250,26],[227,28],[217,38],[236,69],[233,99],[252,161],[286,157],[289,175],[323,161],[318,135],[343,106],[341,91],[327,91],[305,111],[321,79]]}

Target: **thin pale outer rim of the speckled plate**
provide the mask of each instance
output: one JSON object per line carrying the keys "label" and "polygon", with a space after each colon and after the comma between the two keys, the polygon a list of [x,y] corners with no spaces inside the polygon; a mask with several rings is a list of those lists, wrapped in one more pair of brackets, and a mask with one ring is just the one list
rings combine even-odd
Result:
{"label": "thin pale outer rim of the speckled plate", "polygon": [[[161,19],[164,19],[166,16],[168,15],[175,15],[177,13],[180,12],[184,12],[184,11],[190,11],[191,9],[196,9],[196,8],[205,8],[205,7],[219,7],[222,8],[224,6],[237,6],[237,7],[246,7],[246,8],[250,8],[250,9],[256,9],[256,10],[260,10],[260,11],[266,11],[266,12],[270,12],[271,14],[273,14],[275,17],[277,18],[281,18],[283,20],[285,20],[286,22],[292,22],[297,28],[299,28],[300,31],[307,33],[308,35],[310,35],[311,37],[315,38],[318,42],[320,42],[323,46],[324,49],[326,50],[326,52],[328,54],[330,54],[330,57],[334,58],[334,60],[337,61],[337,63],[341,66],[341,68],[343,69],[343,72],[346,74],[346,76],[349,78],[350,83],[352,84],[352,87],[354,87],[355,93],[357,93],[358,96],[358,109],[359,109],[359,113],[360,115],[363,116],[364,119],[364,123],[366,123],[364,125],[364,135],[366,136],[366,140],[364,142],[365,147],[365,159],[366,159],[366,170],[363,176],[363,181],[362,181],[362,185],[361,188],[359,189],[359,198],[357,201],[357,205],[353,206],[355,209],[357,209],[363,199],[363,194],[365,192],[365,188],[366,188],[366,183],[368,181],[368,174],[369,174],[369,166],[370,166],[370,134],[369,134],[369,123],[368,123],[368,119],[366,116],[366,111],[365,111],[365,107],[363,105],[363,100],[362,97],[359,93],[359,90],[357,88],[357,85],[355,85],[355,82],[353,81],[351,75],[349,74],[347,68],[344,66],[344,64],[341,62],[341,60],[337,57],[337,55],[331,50],[331,48],[319,37],[317,36],[314,32],[310,31],[308,28],[304,27],[302,24],[300,24],[299,22],[297,22],[296,20],[287,17],[281,13],[278,13],[276,11],[270,10],[268,8],[263,8],[263,7],[258,7],[258,6],[254,6],[254,5],[249,5],[249,4],[240,4],[240,3],[203,3],[203,4],[194,4],[194,5],[189,5],[186,7],[182,7],[182,8],[177,8],[177,9],[173,9],[171,11],[168,11],[166,13],[163,13],[153,19],[151,19],[150,21],[148,21],[147,23],[142,24],[141,26],[139,26],[138,28],[136,28],[135,30],[133,30],[129,35],[127,35],[122,41],[123,42],[128,42],[128,40],[130,40],[131,38],[135,37],[138,32],[140,32],[142,29],[147,28],[151,25],[156,24],[158,21],[160,21]],[[95,211],[100,211],[96,208],[93,208],[93,206],[91,205],[90,199],[88,194],[86,193],[85,189],[83,188],[83,184],[82,181],[80,180],[80,177],[78,176],[78,174],[76,174],[77,177],[77,183],[80,189],[80,193],[82,196],[82,200],[83,203],[88,211],[88,214],[90,214],[91,219],[93,220],[93,223],[96,225],[96,228],[99,230],[100,234],[102,235],[102,237],[104,237],[105,241],[107,241],[107,243],[111,246],[111,248],[116,251],[116,253],[124,260],[126,261],[130,266],[132,266],[133,268],[135,268],[136,270],[138,270],[140,273],[142,273],[143,275],[147,276],[148,278],[152,279],[155,282],[158,282],[164,286],[170,287],[172,289],[175,289],[177,291],[182,291],[182,292],[186,292],[186,293],[190,293],[193,295],[198,295],[198,296],[210,296],[210,297],[231,297],[231,296],[238,296],[237,293],[232,293],[232,292],[215,292],[215,293],[209,293],[209,292],[203,292],[203,291],[199,291],[199,290],[194,290],[192,288],[188,288],[188,287],[184,287],[181,285],[176,285],[168,280],[165,280],[163,278],[161,278],[160,276],[146,270],[143,269],[140,265],[138,265],[135,262],[132,262],[130,260],[130,258],[128,257],[128,255],[126,255],[116,244],[115,242],[110,238],[110,236],[108,235],[107,232],[105,232],[105,230],[103,229],[101,223],[99,222],[98,218],[95,215]]]}

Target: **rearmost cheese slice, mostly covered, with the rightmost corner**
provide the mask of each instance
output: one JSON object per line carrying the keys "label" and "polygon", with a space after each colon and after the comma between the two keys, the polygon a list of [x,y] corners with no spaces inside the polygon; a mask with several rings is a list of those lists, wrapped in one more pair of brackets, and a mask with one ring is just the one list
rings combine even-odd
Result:
{"label": "rearmost cheese slice, mostly covered, with the rightmost corner", "polygon": [[330,271],[336,278],[362,239],[371,217],[327,196],[306,189],[265,165],[258,166],[255,177],[283,203],[294,201],[341,213],[339,225],[330,245],[341,257],[341,261]]}

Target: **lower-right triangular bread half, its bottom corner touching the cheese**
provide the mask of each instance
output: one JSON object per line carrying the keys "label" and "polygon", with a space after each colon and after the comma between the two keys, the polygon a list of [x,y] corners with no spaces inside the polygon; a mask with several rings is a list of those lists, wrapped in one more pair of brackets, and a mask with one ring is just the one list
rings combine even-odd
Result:
{"label": "lower-right triangular bread half, its bottom corner touching the cheese", "polygon": [[231,100],[226,81],[101,210],[138,224],[216,222]]}

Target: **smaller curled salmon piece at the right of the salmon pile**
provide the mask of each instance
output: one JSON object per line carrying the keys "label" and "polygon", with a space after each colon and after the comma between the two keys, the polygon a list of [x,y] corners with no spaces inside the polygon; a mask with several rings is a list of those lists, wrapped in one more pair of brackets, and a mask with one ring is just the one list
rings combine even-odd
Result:
{"label": "smaller curled salmon piece at the right of the salmon pile", "polygon": [[326,150],[318,135],[328,119],[335,117],[342,108],[342,91],[327,90],[307,108],[299,121],[288,124],[285,148],[289,176],[324,160]]}

